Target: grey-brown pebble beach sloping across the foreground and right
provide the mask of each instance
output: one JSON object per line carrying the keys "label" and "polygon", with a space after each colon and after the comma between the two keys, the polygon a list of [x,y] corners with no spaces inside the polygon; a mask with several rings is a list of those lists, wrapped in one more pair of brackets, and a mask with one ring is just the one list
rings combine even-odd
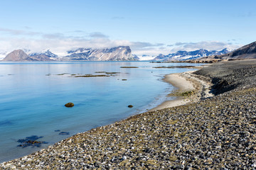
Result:
{"label": "grey-brown pebble beach sloping across the foreground and right", "polygon": [[186,98],[196,101],[79,133],[0,169],[256,169],[256,60],[190,75],[213,85]]}

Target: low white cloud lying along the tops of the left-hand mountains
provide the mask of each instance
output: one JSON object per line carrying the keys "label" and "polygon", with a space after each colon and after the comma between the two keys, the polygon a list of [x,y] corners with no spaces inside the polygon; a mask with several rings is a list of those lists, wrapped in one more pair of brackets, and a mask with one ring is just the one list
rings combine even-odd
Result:
{"label": "low white cloud lying along the tops of the left-hand mountains", "polygon": [[1,38],[0,52],[11,52],[17,49],[28,49],[31,52],[38,52],[49,49],[57,55],[65,55],[66,51],[74,50],[78,47],[102,48],[130,44],[127,40],[110,40],[108,38],[59,38],[54,35],[43,39]]}

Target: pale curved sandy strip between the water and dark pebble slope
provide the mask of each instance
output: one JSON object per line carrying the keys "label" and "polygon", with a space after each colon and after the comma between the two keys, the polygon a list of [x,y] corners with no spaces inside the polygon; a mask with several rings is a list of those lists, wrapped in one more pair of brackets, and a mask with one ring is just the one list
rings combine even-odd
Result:
{"label": "pale curved sandy strip between the water and dark pebble slope", "polygon": [[193,72],[168,74],[164,77],[164,81],[176,87],[178,89],[176,90],[178,93],[196,91],[196,94],[193,94],[193,96],[190,96],[189,98],[177,96],[175,100],[164,101],[164,103],[161,103],[161,105],[156,106],[156,108],[152,108],[149,111],[181,106],[185,105],[186,103],[198,101],[201,98],[208,98],[213,96],[213,94],[210,94],[209,91],[211,86],[210,82],[199,79],[194,74],[192,74]]}

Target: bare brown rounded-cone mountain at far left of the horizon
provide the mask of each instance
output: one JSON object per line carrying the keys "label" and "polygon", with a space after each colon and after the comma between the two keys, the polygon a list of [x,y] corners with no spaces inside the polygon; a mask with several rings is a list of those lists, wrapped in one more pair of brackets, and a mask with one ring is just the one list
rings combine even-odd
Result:
{"label": "bare brown rounded-cone mountain at far left of the horizon", "polygon": [[14,50],[10,52],[2,61],[34,61],[33,58],[29,57],[23,50]]}

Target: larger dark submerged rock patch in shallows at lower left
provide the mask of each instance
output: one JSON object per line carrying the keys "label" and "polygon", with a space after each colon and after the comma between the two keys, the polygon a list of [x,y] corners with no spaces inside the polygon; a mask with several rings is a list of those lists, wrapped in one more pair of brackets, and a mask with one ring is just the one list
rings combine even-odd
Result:
{"label": "larger dark submerged rock patch in shallows at lower left", "polygon": [[40,138],[42,138],[42,136],[38,137],[36,135],[32,135],[31,137],[26,137],[25,139],[17,140],[17,142],[21,143],[21,145],[18,145],[17,147],[41,147],[42,144],[48,143],[44,141],[37,141]]}

